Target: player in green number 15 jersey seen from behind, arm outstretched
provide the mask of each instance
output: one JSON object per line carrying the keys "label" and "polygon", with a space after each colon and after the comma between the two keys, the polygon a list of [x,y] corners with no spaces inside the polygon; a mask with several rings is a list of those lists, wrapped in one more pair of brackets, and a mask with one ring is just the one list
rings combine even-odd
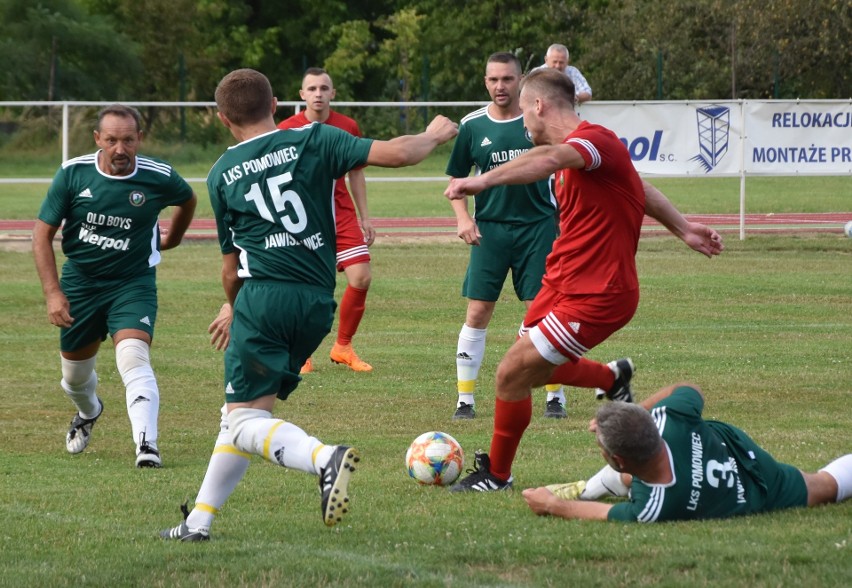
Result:
{"label": "player in green number 15 jersey seen from behind, arm outstretched", "polygon": [[390,141],[355,137],[330,125],[276,128],[277,100],[266,77],[236,70],[216,88],[219,118],[237,145],[213,166],[207,186],[222,250],[230,309],[211,325],[225,349],[221,428],[195,507],[164,539],[204,541],[236,488],[250,455],[319,476],[321,514],[337,524],[349,510],[348,485],[360,457],[272,417],[305,360],[331,330],[336,267],[333,194],[337,178],[364,164],[414,165],[452,139],[438,116],[419,135]]}

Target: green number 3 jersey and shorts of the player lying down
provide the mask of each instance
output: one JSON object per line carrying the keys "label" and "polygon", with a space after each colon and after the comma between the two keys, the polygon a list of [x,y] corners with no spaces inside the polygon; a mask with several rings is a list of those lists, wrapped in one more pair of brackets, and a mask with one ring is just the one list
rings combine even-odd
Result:
{"label": "green number 3 jersey and shorts of the player lying down", "polygon": [[630,499],[610,520],[655,522],[709,519],[807,505],[794,467],[776,462],[740,429],[701,418],[704,400],[688,386],[651,409],[666,444],[674,479],[646,484],[636,476]]}

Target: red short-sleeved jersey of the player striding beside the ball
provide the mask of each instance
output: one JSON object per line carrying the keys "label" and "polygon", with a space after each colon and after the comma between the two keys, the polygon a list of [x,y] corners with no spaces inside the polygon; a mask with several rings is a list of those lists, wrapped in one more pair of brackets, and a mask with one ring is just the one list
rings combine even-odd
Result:
{"label": "red short-sleeved jersey of the player striding beside the ball", "polygon": [[638,290],[645,191],[627,148],[609,129],[586,121],[563,143],[586,167],[556,172],[560,235],[542,282],[570,295]]}

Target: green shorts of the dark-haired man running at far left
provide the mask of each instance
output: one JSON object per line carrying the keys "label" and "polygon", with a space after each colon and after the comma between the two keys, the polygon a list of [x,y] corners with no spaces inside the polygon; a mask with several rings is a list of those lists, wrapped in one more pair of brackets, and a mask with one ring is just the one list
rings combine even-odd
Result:
{"label": "green shorts of the dark-haired man running at far left", "polygon": [[153,339],[157,321],[157,273],[122,280],[94,280],[67,264],[60,287],[71,306],[74,324],[60,329],[59,348],[76,351],[104,341],[122,329],[139,329]]}

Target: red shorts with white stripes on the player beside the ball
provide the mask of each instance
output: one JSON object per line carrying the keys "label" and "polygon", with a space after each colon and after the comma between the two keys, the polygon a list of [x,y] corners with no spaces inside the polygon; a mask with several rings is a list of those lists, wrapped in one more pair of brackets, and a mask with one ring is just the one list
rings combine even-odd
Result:
{"label": "red shorts with white stripes on the player beside the ball", "polygon": [[519,335],[529,334],[542,357],[555,365],[576,362],[629,323],[638,306],[639,290],[568,295],[542,285]]}

